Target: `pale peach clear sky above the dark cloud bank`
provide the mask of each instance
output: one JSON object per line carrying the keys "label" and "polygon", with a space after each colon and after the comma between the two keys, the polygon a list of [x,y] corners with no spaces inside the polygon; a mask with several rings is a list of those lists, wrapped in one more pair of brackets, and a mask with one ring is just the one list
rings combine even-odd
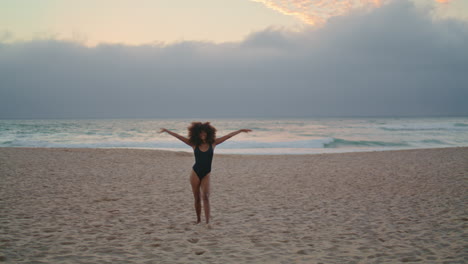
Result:
{"label": "pale peach clear sky above the dark cloud bank", "polygon": [[[55,38],[88,46],[242,41],[268,27],[302,30],[392,0],[0,0],[0,39]],[[468,20],[466,0],[412,0]],[[338,4],[337,4],[338,3]]]}

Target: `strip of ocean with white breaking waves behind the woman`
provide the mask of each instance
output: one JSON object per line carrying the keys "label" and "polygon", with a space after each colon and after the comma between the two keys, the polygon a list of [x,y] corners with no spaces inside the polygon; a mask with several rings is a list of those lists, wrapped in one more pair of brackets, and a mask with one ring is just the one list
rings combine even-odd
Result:
{"label": "strip of ocean with white breaking waves behind the woman", "polygon": [[164,127],[187,136],[192,121],[210,121],[223,136],[216,153],[315,154],[468,146],[468,117],[308,119],[0,120],[0,147],[132,148],[192,152]]}

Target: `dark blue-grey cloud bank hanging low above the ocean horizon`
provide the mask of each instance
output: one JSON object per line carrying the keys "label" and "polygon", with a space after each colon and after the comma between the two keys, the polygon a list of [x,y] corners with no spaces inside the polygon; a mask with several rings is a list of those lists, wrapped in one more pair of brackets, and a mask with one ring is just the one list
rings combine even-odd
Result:
{"label": "dark blue-grey cloud bank hanging low above the ocean horizon", "polygon": [[468,25],[408,1],[240,43],[0,43],[0,118],[468,115]]}

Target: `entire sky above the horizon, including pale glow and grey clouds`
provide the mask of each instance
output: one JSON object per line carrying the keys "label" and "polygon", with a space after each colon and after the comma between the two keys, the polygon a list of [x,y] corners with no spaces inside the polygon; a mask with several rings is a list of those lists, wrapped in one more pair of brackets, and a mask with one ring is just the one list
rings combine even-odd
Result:
{"label": "entire sky above the horizon, including pale glow and grey clouds", "polygon": [[0,118],[467,116],[464,0],[0,0]]}

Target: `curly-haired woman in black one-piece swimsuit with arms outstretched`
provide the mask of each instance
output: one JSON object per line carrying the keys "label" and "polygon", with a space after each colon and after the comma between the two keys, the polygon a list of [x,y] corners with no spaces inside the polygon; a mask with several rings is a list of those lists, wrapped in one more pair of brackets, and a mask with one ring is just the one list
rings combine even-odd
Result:
{"label": "curly-haired woman in black one-piece swimsuit with arms outstretched", "polygon": [[186,138],[165,128],[161,128],[159,133],[166,132],[193,148],[195,164],[190,174],[190,184],[192,185],[193,197],[195,198],[197,224],[201,222],[201,201],[203,200],[206,224],[209,227],[210,172],[215,147],[239,133],[251,131],[250,129],[240,129],[223,137],[216,138],[216,128],[211,126],[210,122],[192,122],[188,127],[189,136]]}

